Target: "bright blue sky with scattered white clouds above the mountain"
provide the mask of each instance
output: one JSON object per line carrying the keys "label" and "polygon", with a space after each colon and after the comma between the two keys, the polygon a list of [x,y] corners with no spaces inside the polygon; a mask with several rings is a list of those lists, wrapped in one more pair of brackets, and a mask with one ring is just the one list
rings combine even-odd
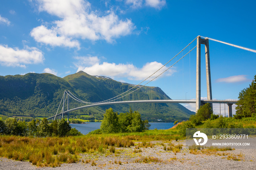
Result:
{"label": "bright blue sky with scattered white clouds above the mountain", "polygon": [[[197,35],[256,49],[255,6],[253,0],[1,1],[0,75],[47,72],[65,77],[83,70],[136,84]],[[210,62],[216,99],[237,99],[256,74],[256,53],[214,41]],[[193,50],[148,85],[159,86],[173,99],[193,99],[195,72]],[[202,56],[202,97],[205,84]]]}

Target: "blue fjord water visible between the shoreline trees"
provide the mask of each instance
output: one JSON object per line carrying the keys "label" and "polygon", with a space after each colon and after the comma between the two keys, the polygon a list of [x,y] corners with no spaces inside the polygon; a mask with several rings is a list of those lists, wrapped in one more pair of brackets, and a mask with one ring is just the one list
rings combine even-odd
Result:
{"label": "blue fjord water visible between the shoreline trees", "polygon": [[[163,122],[150,122],[150,130],[153,129],[169,129],[173,127],[173,123],[163,123]],[[76,128],[82,134],[88,134],[91,131],[99,129],[101,122],[89,122],[88,124],[70,124],[72,128]]]}

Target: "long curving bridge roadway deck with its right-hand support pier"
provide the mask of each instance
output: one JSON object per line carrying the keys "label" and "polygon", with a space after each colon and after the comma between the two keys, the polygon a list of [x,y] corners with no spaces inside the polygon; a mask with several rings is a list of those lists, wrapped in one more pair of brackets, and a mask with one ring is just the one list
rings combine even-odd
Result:
{"label": "long curving bridge roadway deck with its right-hand support pier", "polygon": [[[59,113],[59,114],[49,117],[47,119],[51,120],[51,119],[54,119],[54,117],[61,116],[61,115],[68,115],[69,112],[76,111],[79,109],[89,108],[89,107],[114,105],[114,104],[132,104],[132,103],[196,103],[196,100],[135,100],[135,101],[115,101],[115,102],[108,102],[108,103],[97,103],[97,104],[85,105],[85,106],[74,108],[74,109],[69,109],[68,111],[65,111],[64,113]],[[237,100],[201,100],[201,103],[202,104],[204,104],[204,103],[225,103],[225,104],[229,105],[229,116],[232,116],[232,109],[230,109],[230,107],[232,104],[236,104]]]}

